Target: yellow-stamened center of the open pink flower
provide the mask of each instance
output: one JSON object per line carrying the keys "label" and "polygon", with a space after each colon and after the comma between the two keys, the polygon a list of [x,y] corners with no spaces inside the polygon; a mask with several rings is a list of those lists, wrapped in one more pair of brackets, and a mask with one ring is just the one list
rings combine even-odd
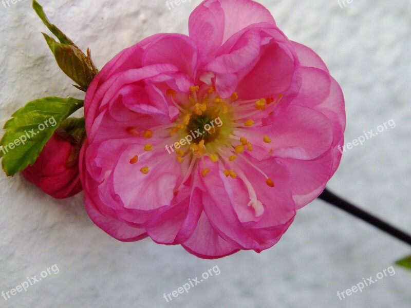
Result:
{"label": "yellow-stamened center of the open pink flower", "polygon": [[[279,94],[276,100],[239,100],[238,94],[234,92],[230,98],[222,99],[214,85],[202,84],[201,87],[190,87],[189,94],[177,94],[175,90],[169,89],[166,96],[180,110],[180,116],[173,124],[144,132],[136,131],[135,127],[128,127],[127,132],[146,139],[151,139],[154,135],[169,134],[165,150],[168,151],[168,155],[175,155],[185,174],[175,188],[175,194],[178,194],[180,187],[190,178],[196,166],[200,168],[201,175],[206,177],[211,171],[212,164],[219,164],[219,169],[223,170],[226,177],[238,177],[245,184],[250,196],[248,206],[255,210],[255,216],[263,215],[264,206],[257,199],[254,187],[244,170],[241,170],[237,159],[258,171],[265,178],[267,185],[274,187],[274,181],[244,155],[246,151],[253,151],[253,145],[244,136],[252,136],[253,141],[260,139],[260,147],[264,141],[268,155],[273,151],[270,147],[271,139],[267,135],[259,136],[259,133],[249,131],[248,127],[261,125],[262,119],[272,114],[283,95]],[[130,164],[137,163],[146,153],[163,147],[163,143],[156,146],[145,144],[144,152],[131,158]],[[206,161],[206,157],[209,160]],[[151,168],[144,166],[140,171],[146,175]]]}

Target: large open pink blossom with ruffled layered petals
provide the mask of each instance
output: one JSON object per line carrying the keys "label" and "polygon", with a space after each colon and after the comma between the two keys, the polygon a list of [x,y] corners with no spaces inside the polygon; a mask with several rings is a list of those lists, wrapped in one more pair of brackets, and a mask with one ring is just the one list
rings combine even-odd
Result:
{"label": "large open pink blossom with ruffled layered petals", "polygon": [[261,252],[337,169],[343,94],[253,1],[205,1],[189,29],[125,49],[91,83],[87,212],[121,241]]}

